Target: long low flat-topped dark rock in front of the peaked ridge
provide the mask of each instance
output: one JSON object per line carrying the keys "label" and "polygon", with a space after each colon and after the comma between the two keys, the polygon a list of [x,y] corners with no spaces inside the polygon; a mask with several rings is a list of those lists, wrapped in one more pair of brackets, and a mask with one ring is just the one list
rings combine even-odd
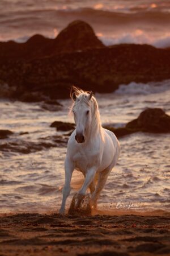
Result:
{"label": "long low flat-topped dark rock in front of the peaked ridge", "polygon": [[69,98],[73,84],[85,90],[109,93],[131,81],[170,79],[170,50],[126,44],[27,62],[0,59],[0,79],[9,86],[15,85],[13,97],[22,101],[40,101],[41,95],[51,99]]}

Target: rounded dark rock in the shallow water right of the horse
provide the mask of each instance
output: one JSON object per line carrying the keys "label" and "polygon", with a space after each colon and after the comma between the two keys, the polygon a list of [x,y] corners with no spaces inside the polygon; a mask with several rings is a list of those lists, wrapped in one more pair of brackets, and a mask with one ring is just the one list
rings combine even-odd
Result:
{"label": "rounded dark rock in the shallow water right of the horse", "polygon": [[170,133],[170,117],[162,109],[148,108],[137,119],[127,123],[126,129],[150,133]]}

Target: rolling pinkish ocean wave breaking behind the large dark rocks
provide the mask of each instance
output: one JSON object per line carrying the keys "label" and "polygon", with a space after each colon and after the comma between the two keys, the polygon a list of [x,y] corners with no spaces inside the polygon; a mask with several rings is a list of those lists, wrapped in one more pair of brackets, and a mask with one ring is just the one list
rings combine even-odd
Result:
{"label": "rolling pinkish ocean wave breaking behind the large dark rocks", "polygon": [[[14,9],[4,12],[0,17],[0,40],[13,39],[17,42],[25,42],[28,36],[37,33],[55,38],[59,31],[76,19],[82,19],[91,24],[106,45],[147,43],[161,48],[170,46],[168,9],[167,11],[137,9],[132,12],[105,9],[105,7],[101,9],[95,7],[57,9],[57,7],[49,6],[43,9],[36,6],[31,10]],[[156,27],[156,32],[153,30],[154,27]],[[122,31],[121,36],[120,31]],[[122,35],[123,32],[126,34]]]}

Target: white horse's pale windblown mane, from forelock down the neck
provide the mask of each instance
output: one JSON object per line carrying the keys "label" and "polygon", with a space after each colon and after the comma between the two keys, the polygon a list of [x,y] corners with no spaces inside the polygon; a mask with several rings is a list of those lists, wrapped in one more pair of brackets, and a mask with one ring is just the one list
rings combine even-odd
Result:
{"label": "white horse's pale windblown mane, from forelock down the neck", "polygon": [[[70,113],[73,112],[76,108],[78,108],[80,102],[83,102],[84,104],[87,104],[88,106],[91,107],[92,111],[92,127],[94,130],[94,133],[100,133],[101,138],[103,139],[103,129],[101,129],[101,120],[100,120],[100,113],[99,113],[99,106],[97,104],[96,98],[94,95],[92,95],[91,100],[87,100],[87,96],[90,94],[90,92],[86,90],[82,90],[76,86],[72,86],[71,92],[70,92],[70,97],[73,100],[73,93],[75,93],[76,97],[79,99],[78,101],[74,101],[71,108],[70,108]],[[94,134],[94,135],[95,135]]]}

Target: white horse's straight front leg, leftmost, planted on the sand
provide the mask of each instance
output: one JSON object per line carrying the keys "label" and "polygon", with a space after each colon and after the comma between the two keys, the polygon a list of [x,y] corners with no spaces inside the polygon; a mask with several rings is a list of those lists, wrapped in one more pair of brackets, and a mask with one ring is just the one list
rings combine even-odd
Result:
{"label": "white horse's straight front leg, leftmost, planted on the sand", "polygon": [[63,187],[63,191],[62,191],[62,204],[61,204],[61,208],[59,209],[59,213],[60,214],[64,214],[65,213],[65,204],[66,204],[66,200],[67,197],[70,195],[70,182],[71,182],[71,177],[74,171],[74,163],[66,157],[65,159],[65,185]]}

